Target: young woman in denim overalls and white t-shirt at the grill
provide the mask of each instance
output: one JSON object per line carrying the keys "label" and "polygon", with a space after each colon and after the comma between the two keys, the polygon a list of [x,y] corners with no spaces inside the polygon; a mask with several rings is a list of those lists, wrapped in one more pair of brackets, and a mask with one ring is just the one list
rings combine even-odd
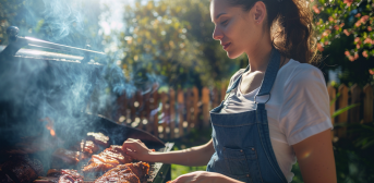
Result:
{"label": "young woman in denim overalls and white t-shirt at the grill", "polygon": [[305,0],[212,0],[210,16],[213,38],[228,57],[249,57],[249,66],[231,77],[226,99],[210,111],[212,139],[170,152],[128,139],[123,149],[143,161],[207,164],[178,183],[287,183],[295,160],[305,183],[337,182],[326,84],[309,64],[316,57]]}

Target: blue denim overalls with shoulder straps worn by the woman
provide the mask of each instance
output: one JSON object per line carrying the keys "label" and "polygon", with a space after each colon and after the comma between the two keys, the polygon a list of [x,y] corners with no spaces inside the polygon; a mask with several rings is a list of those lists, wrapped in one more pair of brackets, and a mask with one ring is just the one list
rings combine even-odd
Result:
{"label": "blue denim overalls with shoulder straps worn by the woman", "polygon": [[[268,96],[267,100],[270,99],[270,90],[278,73],[279,62],[280,53],[273,48],[255,101],[260,96]],[[245,71],[249,69],[248,66]],[[226,91],[227,94],[238,87],[241,77],[242,74],[233,82]],[[218,172],[243,182],[287,183],[272,147],[265,110],[266,102],[256,102],[257,108],[253,111],[219,113],[224,108],[222,101],[210,111],[215,154],[207,164],[207,171]]]}

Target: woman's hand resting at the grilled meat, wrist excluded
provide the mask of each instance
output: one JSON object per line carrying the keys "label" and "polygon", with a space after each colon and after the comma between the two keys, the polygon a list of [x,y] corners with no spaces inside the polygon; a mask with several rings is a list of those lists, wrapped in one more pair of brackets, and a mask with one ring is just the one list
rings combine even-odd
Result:
{"label": "woman's hand resting at the grilled meat, wrist excluded", "polygon": [[128,138],[122,145],[123,151],[131,156],[132,158],[140,161],[150,161],[150,152],[153,150],[148,149],[140,139]]}

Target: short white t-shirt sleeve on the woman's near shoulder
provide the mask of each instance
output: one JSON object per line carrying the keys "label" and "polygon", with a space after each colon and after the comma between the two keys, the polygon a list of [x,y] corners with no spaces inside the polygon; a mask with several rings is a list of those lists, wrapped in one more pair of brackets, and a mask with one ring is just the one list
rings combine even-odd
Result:
{"label": "short white t-shirt sleeve on the woman's near shoulder", "polygon": [[302,64],[293,71],[285,85],[279,118],[289,145],[333,129],[327,87],[318,69]]}

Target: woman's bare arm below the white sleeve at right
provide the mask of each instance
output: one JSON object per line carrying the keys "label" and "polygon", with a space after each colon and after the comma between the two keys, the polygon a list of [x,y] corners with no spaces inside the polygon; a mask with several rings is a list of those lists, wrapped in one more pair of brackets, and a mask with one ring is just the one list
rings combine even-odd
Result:
{"label": "woman's bare arm below the white sleeve at right", "polygon": [[292,146],[305,183],[336,183],[331,131],[327,130]]}

